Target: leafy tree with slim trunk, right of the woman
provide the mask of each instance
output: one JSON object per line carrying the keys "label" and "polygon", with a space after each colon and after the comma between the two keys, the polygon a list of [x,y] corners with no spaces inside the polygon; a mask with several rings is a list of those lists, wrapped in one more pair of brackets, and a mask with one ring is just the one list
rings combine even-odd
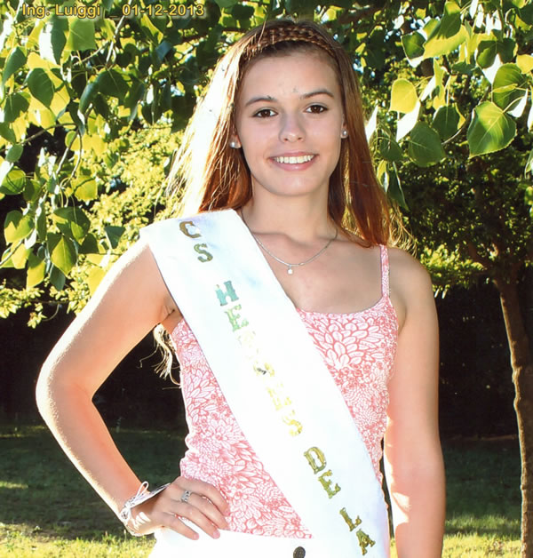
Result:
{"label": "leafy tree with slim trunk, right of the woman", "polygon": [[[378,173],[404,209],[409,201],[407,220],[425,247],[422,259],[436,283],[447,288],[484,276],[499,292],[521,447],[521,554],[528,557],[533,556],[533,356],[518,283],[533,262],[533,57],[527,40],[532,8],[503,2],[465,3],[461,9],[447,2],[437,22],[409,21],[405,12],[398,25],[407,23],[411,31],[402,33],[402,45],[421,79],[400,64],[390,108],[403,116],[391,123],[386,115],[377,133]],[[402,189],[401,183],[409,187]]]}

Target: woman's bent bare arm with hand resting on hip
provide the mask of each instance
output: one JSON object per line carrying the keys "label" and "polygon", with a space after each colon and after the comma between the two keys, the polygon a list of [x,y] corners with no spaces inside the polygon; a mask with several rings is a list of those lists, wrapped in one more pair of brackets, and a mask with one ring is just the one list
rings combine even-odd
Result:
{"label": "woman's bent bare arm with hand resting on hip", "polygon": [[[92,397],[131,348],[172,311],[178,312],[151,251],[142,243],[136,244],[116,262],[52,349],[37,382],[37,405],[45,422],[115,514],[137,492],[140,481],[116,449]],[[183,490],[193,490],[188,484],[177,479],[161,496],[142,506],[148,513],[143,532],[167,525],[193,537],[193,531],[174,515],[178,512],[194,515],[193,521],[210,534],[215,531],[212,523],[222,528],[226,525],[219,510],[208,506],[205,498],[196,498],[197,506],[179,502]],[[207,491],[220,509],[226,506],[214,487],[194,484],[197,494],[207,495]],[[202,517],[198,508],[202,508]]]}

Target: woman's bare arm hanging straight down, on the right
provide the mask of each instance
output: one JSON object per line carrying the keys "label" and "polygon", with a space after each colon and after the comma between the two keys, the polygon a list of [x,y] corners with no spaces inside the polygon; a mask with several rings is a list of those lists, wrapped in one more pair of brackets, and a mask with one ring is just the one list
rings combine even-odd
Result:
{"label": "woman's bare arm hanging straight down, on the right", "polygon": [[385,467],[399,558],[442,555],[445,490],[438,426],[438,324],[426,270],[391,251],[391,288],[402,308],[385,436]]}

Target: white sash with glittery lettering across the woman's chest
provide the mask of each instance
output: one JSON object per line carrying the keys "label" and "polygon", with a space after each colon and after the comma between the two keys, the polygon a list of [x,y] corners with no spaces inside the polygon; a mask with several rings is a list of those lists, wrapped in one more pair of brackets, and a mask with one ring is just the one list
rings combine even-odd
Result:
{"label": "white sash with glittery lettering across the woman's chest", "polygon": [[389,556],[386,504],[335,381],[233,210],[146,227],[227,403],[324,556]]}

